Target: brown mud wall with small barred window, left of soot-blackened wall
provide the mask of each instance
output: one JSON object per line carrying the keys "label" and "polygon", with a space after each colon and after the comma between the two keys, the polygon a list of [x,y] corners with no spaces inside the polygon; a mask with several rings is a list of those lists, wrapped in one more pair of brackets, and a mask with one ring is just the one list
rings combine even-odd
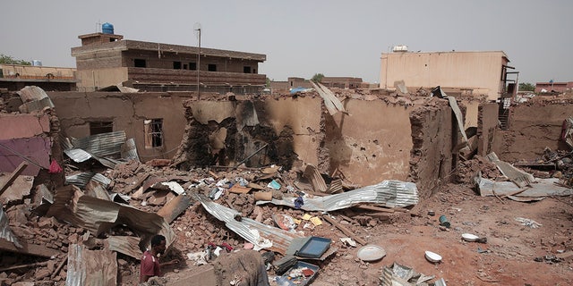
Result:
{"label": "brown mud wall with small barred window, left of soot-blackened wall", "polygon": [[[142,161],[171,158],[181,143],[185,118],[183,101],[192,93],[51,92],[64,135],[90,136],[90,122],[113,122],[135,139]],[[145,147],[144,120],[162,119],[161,147]]]}

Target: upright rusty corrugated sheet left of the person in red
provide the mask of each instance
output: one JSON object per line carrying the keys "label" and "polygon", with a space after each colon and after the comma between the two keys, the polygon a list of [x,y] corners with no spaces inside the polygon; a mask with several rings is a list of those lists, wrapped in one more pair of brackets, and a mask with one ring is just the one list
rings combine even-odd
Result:
{"label": "upright rusty corrugated sheet left of the person in red", "polygon": [[65,285],[117,285],[117,255],[109,249],[90,250],[82,245],[70,245]]}

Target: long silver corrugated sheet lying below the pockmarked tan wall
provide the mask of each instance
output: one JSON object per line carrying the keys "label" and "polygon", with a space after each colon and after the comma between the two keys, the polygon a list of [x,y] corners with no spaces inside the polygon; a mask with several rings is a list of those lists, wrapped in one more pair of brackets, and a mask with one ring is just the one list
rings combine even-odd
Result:
{"label": "long silver corrugated sheet lying below the pockmarked tan wall", "polygon": [[[257,205],[266,203],[295,207],[295,198],[258,201]],[[336,195],[304,198],[304,205],[301,208],[305,211],[330,212],[361,203],[381,204],[387,207],[413,206],[418,203],[418,189],[413,182],[385,180],[376,185]]]}

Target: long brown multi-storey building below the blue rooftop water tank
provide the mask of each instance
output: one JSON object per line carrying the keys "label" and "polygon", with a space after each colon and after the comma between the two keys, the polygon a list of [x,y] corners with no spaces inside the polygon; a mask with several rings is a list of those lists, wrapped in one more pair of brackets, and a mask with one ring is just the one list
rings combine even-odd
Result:
{"label": "long brown multi-storey building below the blue rooftop water tank", "polygon": [[[81,35],[76,58],[78,89],[92,91],[127,83],[142,91],[252,93],[266,84],[259,63],[266,55],[197,46],[125,40],[122,35]],[[201,57],[199,57],[201,55]]]}

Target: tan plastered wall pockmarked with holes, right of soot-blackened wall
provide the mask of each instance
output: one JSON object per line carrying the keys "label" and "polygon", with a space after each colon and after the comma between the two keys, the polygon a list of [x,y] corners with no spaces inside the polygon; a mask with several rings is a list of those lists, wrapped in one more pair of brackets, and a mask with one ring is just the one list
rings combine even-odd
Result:
{"label": "tan plastered wall pockmarked with holes, right of soot-blackened wall", "polygon": [[351,181],[367,185],[382,180],[406,181],[413,147],[409,114],[412,107],[382,100],[345,102],[352,114],[325,114],[325,147],[329,172],[339,171]]}

